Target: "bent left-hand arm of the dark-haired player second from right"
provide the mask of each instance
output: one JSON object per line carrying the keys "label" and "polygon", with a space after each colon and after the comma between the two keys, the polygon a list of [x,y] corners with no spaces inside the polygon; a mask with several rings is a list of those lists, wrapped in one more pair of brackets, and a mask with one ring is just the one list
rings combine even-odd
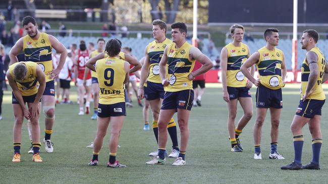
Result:
{"label": "bent left-hand arm of the dark-haired player second from right", "polygon": [[256,51],[240,67],[240,70],[241,70],[241,72],[243,72],[245,77],[248,78],[248,80],[250,80],[256,86],[260,85],[260,80],[259,79],[256,80],[253,77],[253,75],[251,75],[251,73],[248,71],[248,68],[251,66],[253,67],[253,65],[256,64],[259,59],[260,59],[260,53],[258,51]]}

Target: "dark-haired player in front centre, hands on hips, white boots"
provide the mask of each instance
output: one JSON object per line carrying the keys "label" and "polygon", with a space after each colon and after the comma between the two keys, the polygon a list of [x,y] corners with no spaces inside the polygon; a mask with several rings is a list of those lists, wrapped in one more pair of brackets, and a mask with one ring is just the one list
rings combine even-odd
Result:
{"label": "dark-haired player in front centre, hands on hips, white boots", "polygon": [[[159,62],[159,75],[166,93],[158,118],[158,156],[146,164],[163,164],[165,162],[167,126],[176,112],[178,112],[178,124],[181,132],[181,147],[179,156],[173,165],[186,164],[185,155],[189,140],[188,121],[194,99],[192,80],[195,76],[205,73],[213,67],[207,56],[186,41],[187,26],[185,23],[173,23],[171,28],[173,43],[165,48]],[[196,59],[203,66],[191,72]]]}

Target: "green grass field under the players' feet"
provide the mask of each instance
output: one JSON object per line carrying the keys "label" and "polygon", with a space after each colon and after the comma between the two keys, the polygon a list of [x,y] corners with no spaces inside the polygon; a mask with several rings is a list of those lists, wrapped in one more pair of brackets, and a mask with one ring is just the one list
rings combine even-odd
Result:
{"label": "green grass field under the players' feet", "polygon": [[[42,163],[32,162],[28,154],[30,146],[26,122],[23,126],[21,148],[22,162],[13,163],[13,111],[11,92],[6,91],[3,104],[3,117],[0,121],[0,183],[325,183],[328,170],[328,147],[325,144],[328,133],[328,106],[322,109],[321,130],[321,170],[283,171],[281,165],[294,158],[294,148],[290,124],[299,102],[299,85],[288,84],[283,89],[284,109],[281,115],[279,152],[286,160],[270,160],[270,122],[269,114],[262,129],[262,160],[253,159],[254,116],[241,134],[244,152],[232,153],[227,132],[227,105],[222,99],[222,88],[218,84],[207,85],[202,98],[202,107],[194,107],[189,121],[190,139],[186,154],[186,165],[172,166],[174,159],[167,158],[165,165],[146,165],[154,151],[156,141],[152,131],[144,131],[141,110],[134,99],[134,108],[127,109],[121,132],[117,159],[127,168],[107,168],[108,140],[100,151],[99,165],[88,166],[92,149],[86,146],[96,134],[96,121],[91,115],[78,116],[78,105],[58,105],[56,123],[51,140],[54,152],[45,153],[41,147]],[[328,86],[325,84],[325,94]],[[75,88],[72,100],[76,102]],[[251,89],[253,100],[255,88]],[[255,106],[255,105],[254,105]],[[242,115],[239,106],[239,119]],[[176,115],[175,115],[176,119]],[[150,118],[151,121],[151,118]],[[41,137],[43,138],[44,118],[40,118]],[[109,131],[107,131],[109,132]],[[178,131],[179,132],[179,131]],[[178,133],[179,134],[179,133]],[[303,164],[311,160],[311,136],[304,127]],[[180,142],[180,141],[179,141]],[[172,143],[169,139],[167,148]]]}

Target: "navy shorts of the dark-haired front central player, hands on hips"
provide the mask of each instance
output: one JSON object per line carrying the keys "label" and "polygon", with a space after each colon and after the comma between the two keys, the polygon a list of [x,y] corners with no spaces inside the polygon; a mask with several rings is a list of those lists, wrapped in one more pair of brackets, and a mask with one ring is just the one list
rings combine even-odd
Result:
{"label": "navy shorts of the dark-haired front central player, hands on hips", "polygon": [[186,109],[191,110],[194,101],[194,90],[186,89],[176,92],[167,91],[161,104],[162,110]]}

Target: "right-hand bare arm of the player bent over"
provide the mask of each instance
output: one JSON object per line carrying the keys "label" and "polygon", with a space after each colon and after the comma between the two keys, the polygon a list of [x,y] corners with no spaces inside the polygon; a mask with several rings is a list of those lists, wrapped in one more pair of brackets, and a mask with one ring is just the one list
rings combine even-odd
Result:
{"label": "right-hand bare arm of the player bent over", "polygon": [[34,102],[29,107],[31,118],[35,118],[40,114],[39,103],[45,88],[45,75],[39,65],[36,65],[36,76],[39,81],[39,88],[37,90]]}

